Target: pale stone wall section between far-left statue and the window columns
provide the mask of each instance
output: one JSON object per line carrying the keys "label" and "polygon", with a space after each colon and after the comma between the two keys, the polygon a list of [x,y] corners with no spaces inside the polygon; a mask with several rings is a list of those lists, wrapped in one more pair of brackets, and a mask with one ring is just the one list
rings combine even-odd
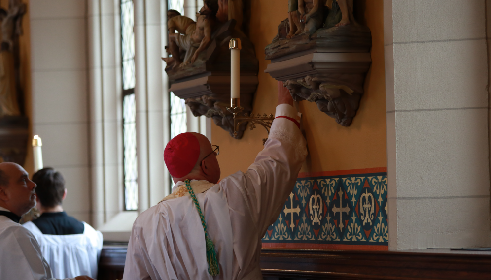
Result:
{"label": "pale stone wall section between far-left statue and the window columns", "polygon": [[33,132],[66,180],[67,213],[91,223],[85,0],[30,0]]}

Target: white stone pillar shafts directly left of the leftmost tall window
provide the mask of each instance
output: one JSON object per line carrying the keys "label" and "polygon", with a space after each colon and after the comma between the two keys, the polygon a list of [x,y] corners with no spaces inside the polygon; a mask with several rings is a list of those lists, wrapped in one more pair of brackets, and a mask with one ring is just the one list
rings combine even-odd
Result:
{"label": "white stone pillar shafts directly left of the leftmost tall window", "polygon": [[119,0],[88,0],[89,112],[93,219],[124,207]]}

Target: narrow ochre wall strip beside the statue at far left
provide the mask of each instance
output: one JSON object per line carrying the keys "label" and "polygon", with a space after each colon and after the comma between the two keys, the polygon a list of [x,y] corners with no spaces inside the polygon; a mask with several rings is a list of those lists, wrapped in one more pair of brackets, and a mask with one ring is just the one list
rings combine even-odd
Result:
{"label": "narrow ochre wall strip beside the statue at far left", "polygon": [[[24,31],[23,35],[19,38],[19,47],[20,47],[20,79],[21,86],[24,90],[24,105],[25,112],[27,117],[29,118],[29,131],[30,131],[30,139],[32,139],[32,122],[33,122],[33,109],[32,109],[32,96],[31,96],[31,26],[29,21],[29,10],[30,10],[30,2],[29,0],[22,0],[23,3],[27,4],[27,12],[24,14],[22,18],[22,29]],[[0,7],[8,10],[8,0],[0,0]],[[1,34],[0,34],[1,36]],[[24,168],[29,173],[29,175],[33,174],[34,171],[34,159],[33,159],[33,148],[31,146],[31,142],[27,143],[27,157],[24,162]]]}

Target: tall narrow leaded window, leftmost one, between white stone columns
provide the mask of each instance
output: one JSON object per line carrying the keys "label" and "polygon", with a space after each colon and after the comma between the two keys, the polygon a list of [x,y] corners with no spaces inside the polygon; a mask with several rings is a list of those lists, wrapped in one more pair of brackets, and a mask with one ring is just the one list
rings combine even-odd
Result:
{"label": "tall narrow leaded window, leftmost one, between white stone columns", "polygon": [[121,56],[123,66],[124,207],[138,209],[138,164],[135,103],[135,32],[133,0],[121,0]]}

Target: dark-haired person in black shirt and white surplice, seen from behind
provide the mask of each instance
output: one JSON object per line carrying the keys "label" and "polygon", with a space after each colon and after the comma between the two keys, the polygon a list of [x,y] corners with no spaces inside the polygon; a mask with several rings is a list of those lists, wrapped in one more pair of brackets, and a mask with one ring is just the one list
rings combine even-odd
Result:
{"label": "dark-haired person in black shirt and white surplice, seen from behind", "polygon": [[[97,277],[102,234],[63,211],[65,179],[51,167],[33,175],[39,218],[24,224],[35,236],[56,278],[87,274]],[[83,261],[81,261],[83,260]]]}

